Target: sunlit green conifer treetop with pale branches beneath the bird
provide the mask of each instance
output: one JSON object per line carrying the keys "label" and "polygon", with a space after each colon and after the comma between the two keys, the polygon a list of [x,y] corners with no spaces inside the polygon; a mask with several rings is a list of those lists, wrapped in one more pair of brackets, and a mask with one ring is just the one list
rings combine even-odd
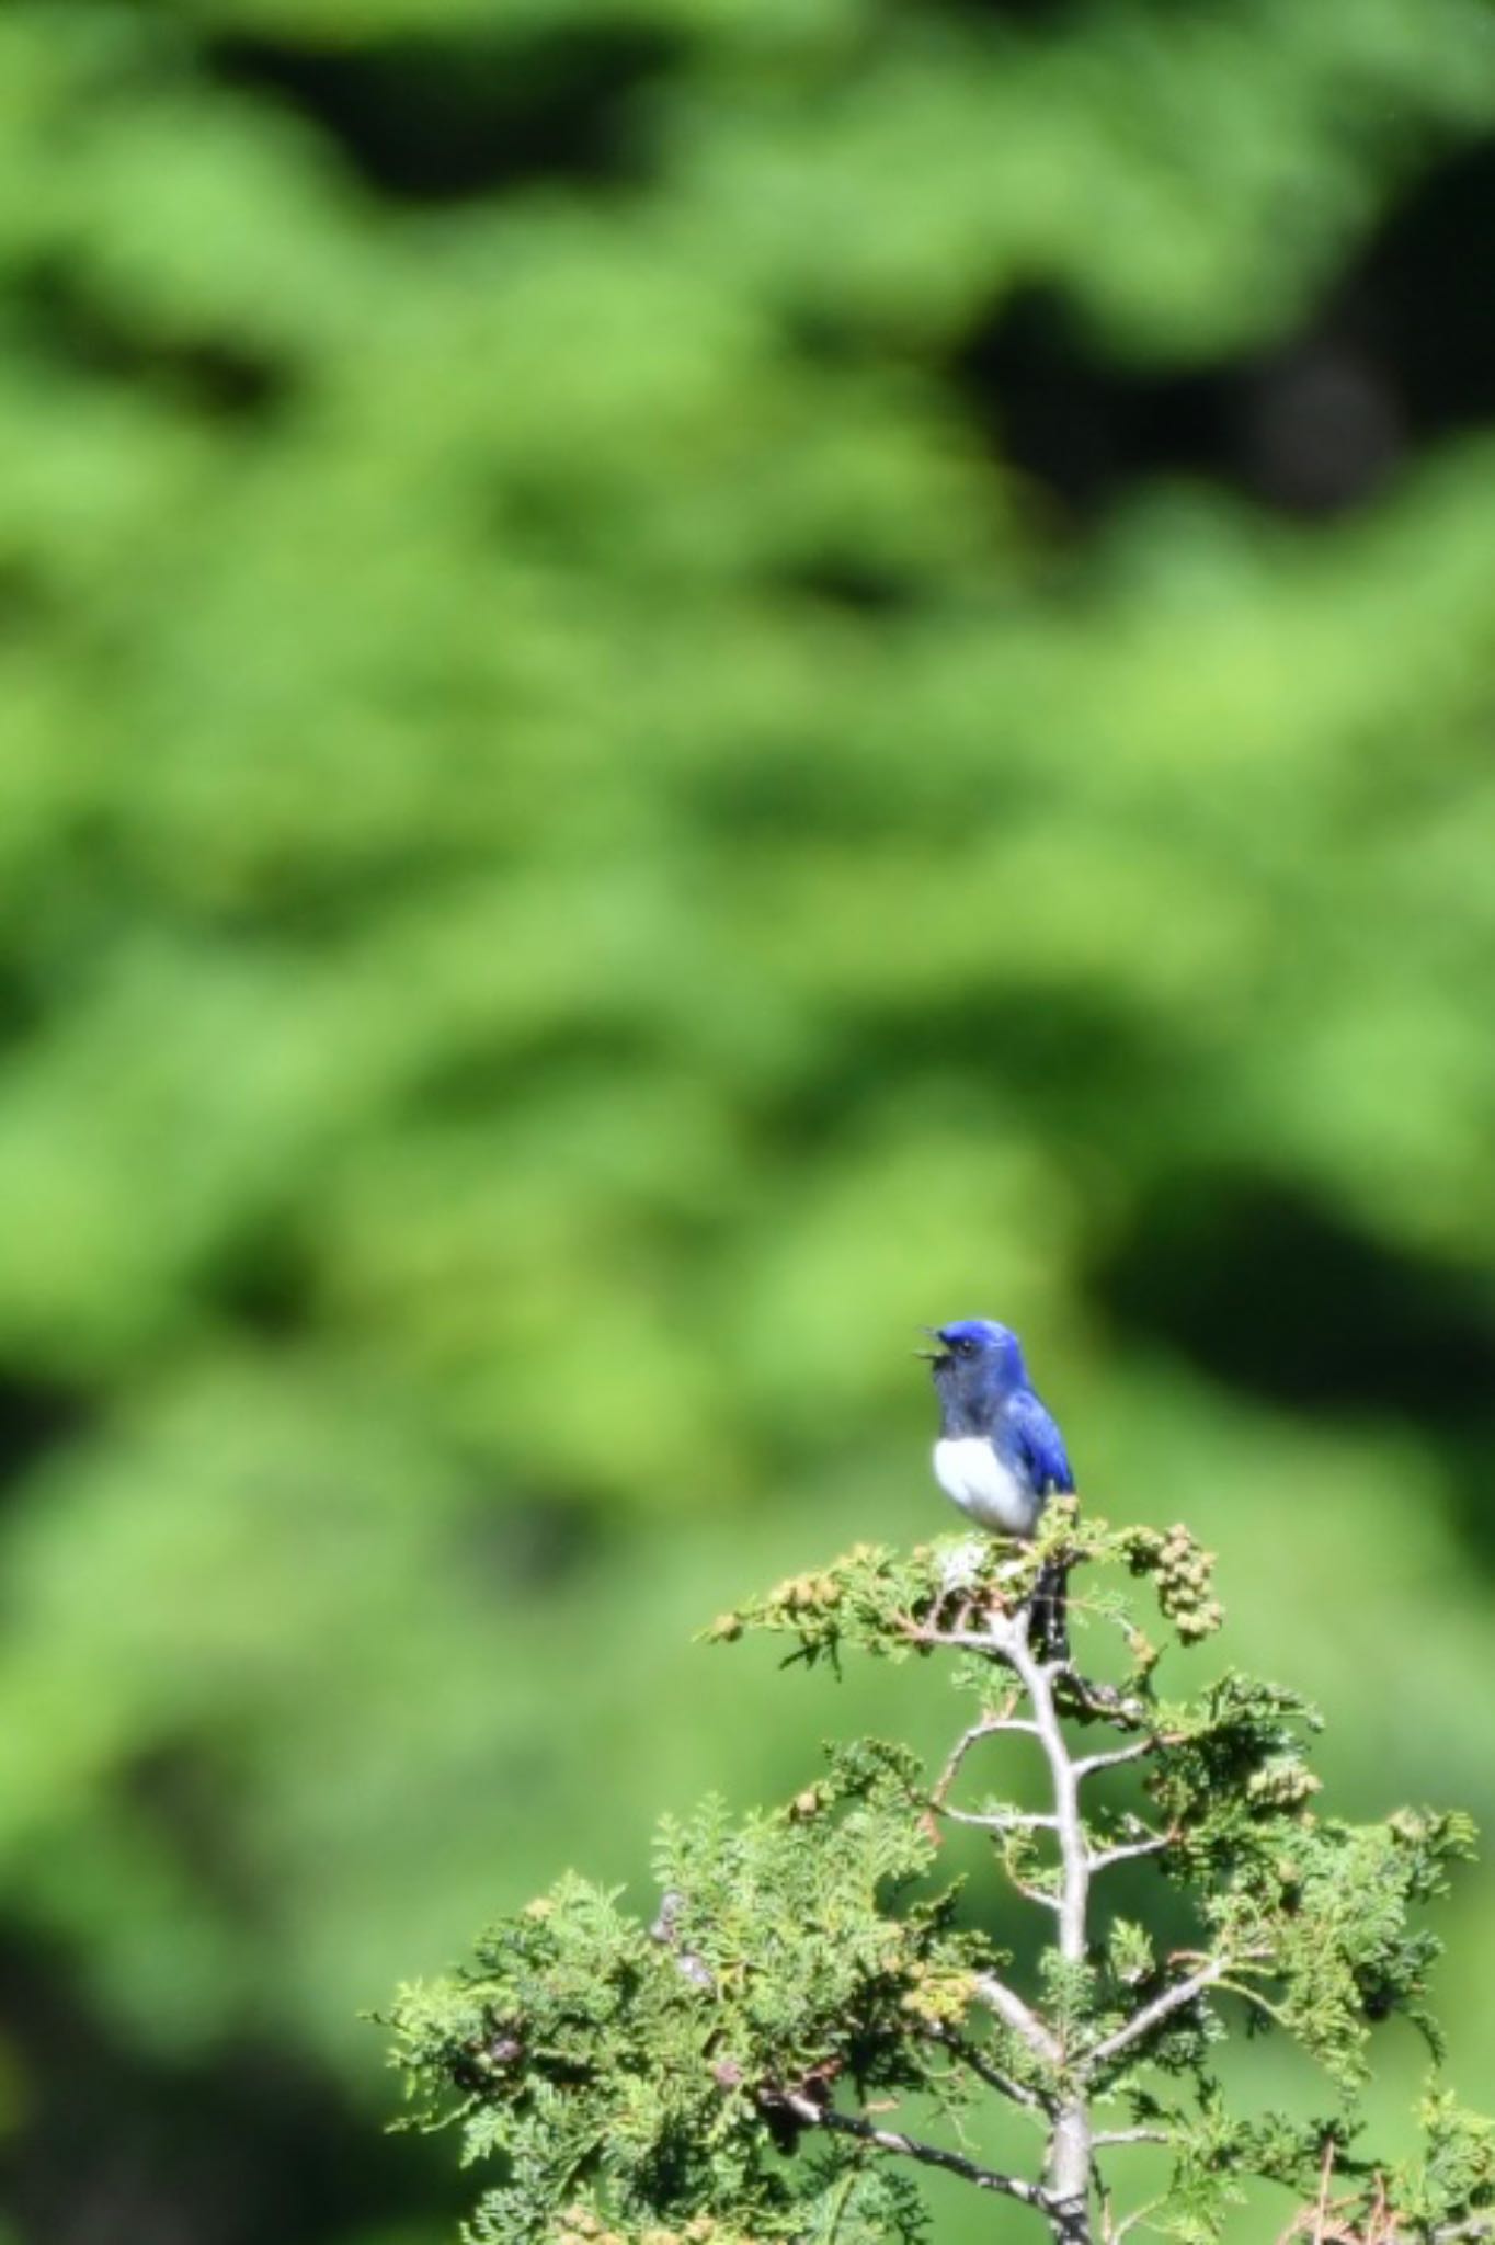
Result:
{"label": "sunlit green conifer treetop with pale branches beneath the bird", "polygon": [[[936,1778],[902,1749],[846,1747],[828,1778],[777,1814],[734,1823],[714,1803],[691,1823],[667,1821],[649,1931],[615,1897],[566,1879],[498,1924],[474,1969],[402,1994],[397,2061],[420,2117],[460,2119],[467,2157],[496,2157],[501,2171],[474,2236],[808,2241],[826,2223],[840,2234],[833,2207],[855,2200],[866,2236],[902,2238],[918,2200],[860,2196],[902,2157],[1019,2198],[1055,2238],[1089,2241],[1089,2216],[1075,2218],[1075,2191],[1080,2205],[1091,2198],[1089,2166],[1062,2187],[1057,2144],[1068,2115],[1082,2115],[1089,2142],[1111,2108],[1170,2148],[1172,2180],[1149,2220],[1181,2245],[1219,2238],[1253,2178],[1327,2191],[1336,2162],[1365,2178],[1354,2205],[1367,2223],[1389,2220],[1385,2236],[1437,2245],[1479,2234],[1450,2225],[1495,2211],[1491,2126],[1437,2092],[1421,2115],[1423,2162],[1394,2166],[1358,2146],[1354,2101],[1372,2029],[1392,2014],[1439,2050],[1428,2014],[1439,1942],[1414,1913],[1473,1852],[1468,1818],[1320,1816],[1302,1758],[1306,1708],[1277,1686],[1232,1673],[1163,1702],[1152,1646],[1120,1684],[1044,1666],[1024,1607],[1039,1554],[1071,1569],[1152,1574],[1183,1648],[1203,1634],[1203,1614],[1219,1616],[1210,1556],[1185,1529],[1082,1527],[1060,1506],[1037,1551],[992,1540],[900,1558],[862,1545],[709,1634],[790,1632],[808,1661],[842,1646],[947,1657],[959,1686],[981,1686],[983,1708]],[[1080,1630],[1122,1621],[1129,1641],[1140,1634],[1113,1596],[1075,1585],[1071,1616]],[[1095,1751],[1098,1731],[1120,1744]],[[1021,1733],[1042,1744],[1051,1812],[956,1809],[967,1758]],[[1084,1800],[1086,1780],[1127,1767],[1143,1774],[1152,1821]],[[929,1888],[947,1823],[983,1830],[1017,1893],[1057,1913],[1030,1996],[1006,1978],[1008,1958],[961,1931],[959,1890]],[[1015,1852],[1015,1827],[1028,1848],[1048,1836],[1048,1875]],[[1131,1859],[1181,1888],[1201,1946],[1161,1955],[1145,1924],[1091,1915],[1091,1881]],[[1232,2110],[1217,2054],[1232,2023],[1291,2034],[1340,2092],[1338,2110],[1313,2122]],[[992,2171],[963,2151],[963,2117],[983,2095],[1039,2122],[1042,2173]],[[925,2117],[954,2144],[929,2142]],[[799,2162],[806,2135],[826,2137],[828,2157]],[[1109,2184],[1102,2207],[1111,2234]]]}

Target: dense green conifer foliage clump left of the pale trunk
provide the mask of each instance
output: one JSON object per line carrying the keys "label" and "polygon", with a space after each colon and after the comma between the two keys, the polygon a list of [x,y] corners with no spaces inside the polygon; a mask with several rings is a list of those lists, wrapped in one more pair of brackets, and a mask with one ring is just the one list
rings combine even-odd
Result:
{"label": "dense green conifer foliage clump left of the pale trunk", "polygon": [[[474,1973],[413,1989],[400,2050],[465,2157],[501,2153],[478,2238],[586,2236],[584,2216],[680,2238],[918,2236],[918,2202],[833,2151],[792,2173],[788,2097],[947,2086],[947,2020],[985,1944],[952,1899],[911,1899],[934,1848],[902,1758],[862,1749],[777,1816],[667,1823],[646,1933],[563,1879],[496,1926]],[[902,1899],[902,1908],[898,1908]],[[842,2225],[851,2223],[846,2232]]]}

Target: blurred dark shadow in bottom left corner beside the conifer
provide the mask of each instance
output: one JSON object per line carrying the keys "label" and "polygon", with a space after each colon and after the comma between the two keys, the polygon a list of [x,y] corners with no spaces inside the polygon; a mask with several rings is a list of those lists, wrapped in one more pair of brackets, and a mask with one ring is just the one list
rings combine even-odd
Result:
{"label": "blurred dark shadow in bottom left corner beside the conifer", "polygon": [[150,2059],[31,1931],[0,1937],[0,2009],[25,2092],[7,2214],[27,2245],[321,2245],[402,2220],[438,2234],[444,2214],[456,2227],[431,2146],[379,2144],[303,2054],[245,2038],[211,2059]]}

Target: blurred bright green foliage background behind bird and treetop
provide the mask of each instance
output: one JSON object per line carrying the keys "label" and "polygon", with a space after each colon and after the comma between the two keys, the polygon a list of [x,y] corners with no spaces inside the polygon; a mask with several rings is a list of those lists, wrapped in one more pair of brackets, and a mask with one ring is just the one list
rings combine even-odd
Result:
{"label": "blurred bright green foliage background behind bird and treetop", "polygon": [[11,0],[0,112],[4,2245],[451,2234],[359,2007],[941,1735],[689,1646],[954,1524],[925,1318],[1495,1827],[1486,0]]}

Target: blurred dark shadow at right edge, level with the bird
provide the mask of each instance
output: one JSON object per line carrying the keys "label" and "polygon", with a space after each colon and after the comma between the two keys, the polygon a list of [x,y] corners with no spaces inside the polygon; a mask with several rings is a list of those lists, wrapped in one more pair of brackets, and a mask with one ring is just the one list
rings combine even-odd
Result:
{"label": "blurred dark shadow at right edge, level with the bird", "polygon": [[1268,1176],[1170,1176],[1093,1284],[1129,1331],[1275,1403],[1452,1430],[1495,1392],[1488,1286],[1394,1255]]}

